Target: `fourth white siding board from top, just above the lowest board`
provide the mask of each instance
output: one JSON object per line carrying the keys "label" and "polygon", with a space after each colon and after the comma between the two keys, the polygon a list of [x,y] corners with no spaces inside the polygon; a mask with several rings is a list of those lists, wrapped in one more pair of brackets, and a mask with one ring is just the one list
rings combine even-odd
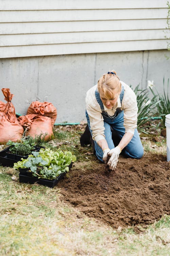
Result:
{"label": "fourth white siding board from top, just above the lowest board", "polygon": [[74,32],[74,33],[47,33],[47,34],[23,34],[0,35],[0,46],[10,45],[36,45],[36,44],[71,44],[91,42],[116,42],[136,40],[164,39],[162,30],[128,30],[128,31],[100,31],[98,32]]}

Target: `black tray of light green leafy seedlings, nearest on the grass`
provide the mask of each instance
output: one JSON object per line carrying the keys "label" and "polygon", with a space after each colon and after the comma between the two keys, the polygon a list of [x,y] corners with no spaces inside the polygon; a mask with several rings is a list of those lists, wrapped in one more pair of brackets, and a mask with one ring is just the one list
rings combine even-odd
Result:
{"label": "black tray of light green leafy seedlings, nearest on the grass", "polygon": [[32,152],[27,159],[14,163],[14,169],[26,169],[26,175],[19,174],[20,182],[38,182],[54,187],[68,172],[76,157],[70,151],[52,151],[50,148],[41,148],[39,152]]}

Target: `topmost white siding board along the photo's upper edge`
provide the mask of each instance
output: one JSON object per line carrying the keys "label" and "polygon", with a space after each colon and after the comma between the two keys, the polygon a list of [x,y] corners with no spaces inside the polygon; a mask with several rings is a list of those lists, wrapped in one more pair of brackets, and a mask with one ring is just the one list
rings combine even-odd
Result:
{"label": "topmost white siding board along the photo's upper edge", "polygon": [[0,10],[166,8],[164,0],[0,0]]}

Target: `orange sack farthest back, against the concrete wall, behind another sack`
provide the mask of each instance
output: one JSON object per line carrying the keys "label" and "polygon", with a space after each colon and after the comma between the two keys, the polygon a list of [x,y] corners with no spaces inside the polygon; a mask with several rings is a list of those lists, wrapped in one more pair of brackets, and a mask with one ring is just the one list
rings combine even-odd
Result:
{"label": "orange sack farthest back, against the concrete wall, behind another sack", "polygon": [[50,102],[33,101],[27,110],[27,115],[28,114],[48,116],[51,118],[52,127],[54,127],[55,119],[57,117],[57,109]]}

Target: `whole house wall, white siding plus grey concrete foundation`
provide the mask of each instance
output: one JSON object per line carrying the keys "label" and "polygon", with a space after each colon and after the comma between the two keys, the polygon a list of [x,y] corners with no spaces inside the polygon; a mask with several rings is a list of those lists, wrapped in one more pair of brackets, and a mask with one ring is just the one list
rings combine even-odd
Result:
{"label": "whole house wall, white siding plus grey concrete foundation", "polygon": [[84,119],[86,91],[111,69],[161,92],[167,15],[166,0],[0,0],[0,88],[11,89],[20,114],[52,102],[57,123]]}

